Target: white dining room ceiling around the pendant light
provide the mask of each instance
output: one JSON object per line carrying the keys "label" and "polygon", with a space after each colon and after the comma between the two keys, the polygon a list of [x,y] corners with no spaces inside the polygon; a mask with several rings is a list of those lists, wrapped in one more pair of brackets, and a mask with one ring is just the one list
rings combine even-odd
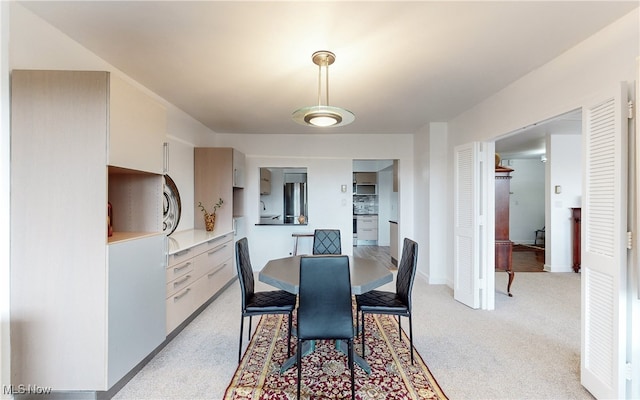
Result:
{"label": "white dining room ceiling around the pendant light", "polygon": [[219,133],[317,133],[311,54],[330,50],[332,133],[447,121],[638,1],[26,1],[22,4]]}

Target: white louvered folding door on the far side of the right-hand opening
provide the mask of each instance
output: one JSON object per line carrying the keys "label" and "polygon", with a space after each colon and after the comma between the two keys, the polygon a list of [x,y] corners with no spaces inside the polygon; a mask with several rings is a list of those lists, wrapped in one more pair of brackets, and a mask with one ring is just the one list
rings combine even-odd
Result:
{"label": "white louvered folding door on the far side of the right-hand opening", "polygon": [[[493,147],[490,145],[489,147]],[[454,166],[454,298],[471,308],[494,308],[493,224],[485,217],[493,205],[486,188],[487,153],[482,144],[468,143],[455,148]],[[491,150],[492,152],[492,150]],[[493,160],[493,154],[491,154]],[[493,165],[493,163],[492,163]]]}

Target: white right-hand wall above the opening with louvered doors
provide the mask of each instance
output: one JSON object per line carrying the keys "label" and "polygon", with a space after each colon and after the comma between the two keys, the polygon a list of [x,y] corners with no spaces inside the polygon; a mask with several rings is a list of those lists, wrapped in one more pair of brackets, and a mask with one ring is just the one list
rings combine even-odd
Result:
{"label": "white right-hand wall above the opening with louvered doors", "polygon": [[[581,108],[594,93],[635,79],[640,11],[624,16],[558,58],[515,81],[449,123],[447,154],[471,141],[492,141],[533,123]],[[447,167],[453,174],[453,157]],[[447,190],[453,198],[453,187]],[[449,204],[451,201],[449,201]],[[453,210],[446,210],[453,220]],[[449,229],[448,238],[453,237]],[[447,254],[452,257],[449,241]],[[453,278],[453,267],[448,268]]]}

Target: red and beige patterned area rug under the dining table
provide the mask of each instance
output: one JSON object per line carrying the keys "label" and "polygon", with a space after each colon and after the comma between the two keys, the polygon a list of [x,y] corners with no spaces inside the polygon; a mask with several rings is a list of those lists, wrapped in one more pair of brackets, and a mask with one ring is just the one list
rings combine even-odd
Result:
{"label": "red and beige patterned area rug under the dining table", "polygon": [[[294,366],[280,373],[287,358],[285,315],[261,317],[240,365],[225,392],[231,399],[295,399],[298,370]],[[447,399],[422,357],[414,349],[411,365],[409,338],[388,315],[366,316],[366,359],[371,366],[367,375],[355,367],[356,399]],[[370,336],[371,334],[371,336]],[[294,344],[295,337],[291,340]],[[355,342],[360,353],[360,337]],[[292,345],[292,355],[295,355]],[[347,356],[333,341],[317,341],[315,351],[302,359],[302,399],[349,399],[351,382]]]}

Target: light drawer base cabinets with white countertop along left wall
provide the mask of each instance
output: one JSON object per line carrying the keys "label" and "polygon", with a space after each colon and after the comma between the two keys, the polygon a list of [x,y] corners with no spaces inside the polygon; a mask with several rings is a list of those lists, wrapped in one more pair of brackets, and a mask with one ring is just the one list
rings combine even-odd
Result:
{"label": "light drawer base cabinets with white countertop along left wall", "polygon": [[173,239],[182,245],[170,250],[166,271],[167,335],[236,276],[232,232],[214,235],[187,231]]}

